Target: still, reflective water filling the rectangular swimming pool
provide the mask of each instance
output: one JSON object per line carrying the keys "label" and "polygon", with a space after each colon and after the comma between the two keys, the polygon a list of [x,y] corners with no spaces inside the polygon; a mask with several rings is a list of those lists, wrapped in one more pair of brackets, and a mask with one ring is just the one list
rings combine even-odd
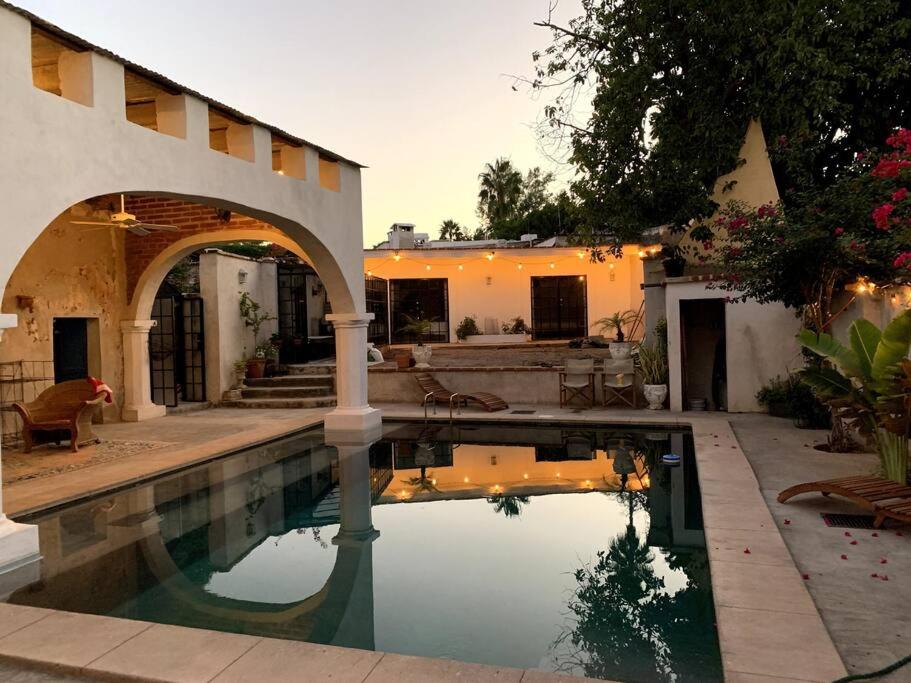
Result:
{"label": "still, reflective water filling the rectangular swimming pool", "polygon": [[308,430],[29,521],[42,580],[18,604],[722,680],[684,431],[387,423],[368,446]]}

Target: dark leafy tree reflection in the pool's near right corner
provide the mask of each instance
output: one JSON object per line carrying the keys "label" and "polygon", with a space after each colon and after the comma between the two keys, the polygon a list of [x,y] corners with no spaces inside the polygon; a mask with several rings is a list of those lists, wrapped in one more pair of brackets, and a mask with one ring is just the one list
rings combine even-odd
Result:
{"label": "dark leafy tree reflection in the pool's near right corner", "polygon": [[671,594],[633,524],[646,498],[612,495],[627,498],[626,530],[574,572],[568,627],[553,647],[558,669],[618,681],[722,680],[705,553],[660,551],[687,577]]}

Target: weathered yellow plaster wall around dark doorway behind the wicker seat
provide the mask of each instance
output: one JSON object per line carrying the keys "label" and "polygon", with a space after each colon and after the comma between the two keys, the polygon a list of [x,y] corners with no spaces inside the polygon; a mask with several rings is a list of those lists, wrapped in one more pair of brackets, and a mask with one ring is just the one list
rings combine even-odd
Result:
{"label": "weathered yellow plaster wall around dark doorway behind the wicker seat", "polygon": [[[120,320],[127,304],[123,234],[74,226],[73,218],[67,212],[51,223],[13,271],[2,311],[18,315],[19,326],[5,331],[0,362],[53,360],[55,317],[97,319],[90,323],[89,369],[114,390],[115,404],[104,410],[116,420],[123,397]],[[17,296],[34,297],[32,310],[19,308]]]}

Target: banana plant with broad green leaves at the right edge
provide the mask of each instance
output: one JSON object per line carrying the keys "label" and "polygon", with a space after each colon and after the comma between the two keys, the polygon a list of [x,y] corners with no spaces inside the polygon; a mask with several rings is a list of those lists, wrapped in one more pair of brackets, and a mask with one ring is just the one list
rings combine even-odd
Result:
{"label": "banana plant with broad green leaves at the right edge", "polygon": [[846,347],[830,334],[801,330],[800,344],[829,361],[805,368],[801,377],[820,400],[875,441],[886,476],[905,483],[911,431],[911,311],[883,330],[869,320],[856,320],[848,338]]}

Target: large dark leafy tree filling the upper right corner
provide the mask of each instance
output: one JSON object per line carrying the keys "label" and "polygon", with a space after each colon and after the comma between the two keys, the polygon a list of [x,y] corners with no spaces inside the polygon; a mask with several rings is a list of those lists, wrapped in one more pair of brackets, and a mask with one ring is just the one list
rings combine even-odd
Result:
{"label": "large dark leafy tree filling the upper right corner", "polygon": [[[539,22],[553,41],[533,55],[532,86],[559,89],[545,130],[568,138],[585,222],[615,245],[711,216],[715,182],[740,163],[751,119],[772,141],[779,187],[809,190],[836,182],[855,150],[909,114],[911,3],[902,0],[582,7],[567,25]],[[591,116],[577,121],[589,91]]]}

